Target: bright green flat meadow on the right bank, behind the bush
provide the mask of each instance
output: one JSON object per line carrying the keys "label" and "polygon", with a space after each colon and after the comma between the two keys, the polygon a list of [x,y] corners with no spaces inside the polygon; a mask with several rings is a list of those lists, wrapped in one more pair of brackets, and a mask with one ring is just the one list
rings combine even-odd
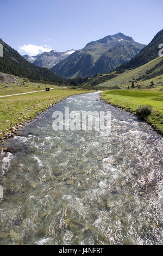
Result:
{"label": "bright green flat meadow on the right bank, behind the bush", "polygon": [[140,105],[151,105],[153,112],[148,116],[147,123],[163,135],[163,91],[109,90],[101,93],[101,95],[106,102],[133,113]]}

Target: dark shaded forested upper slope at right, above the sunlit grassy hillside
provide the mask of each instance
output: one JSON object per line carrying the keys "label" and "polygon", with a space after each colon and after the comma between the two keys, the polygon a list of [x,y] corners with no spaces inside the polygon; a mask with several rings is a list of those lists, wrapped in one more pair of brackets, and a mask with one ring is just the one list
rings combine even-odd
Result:
{"label": "dark shaded forested upper slope at right, above the sunlit grassy hillside", "polygon": [[163,44],[163,29],[154,36],[153,40],[139,54],[126,64],[120,66],[118,70],[137,68],[159,57],[160,44]]}

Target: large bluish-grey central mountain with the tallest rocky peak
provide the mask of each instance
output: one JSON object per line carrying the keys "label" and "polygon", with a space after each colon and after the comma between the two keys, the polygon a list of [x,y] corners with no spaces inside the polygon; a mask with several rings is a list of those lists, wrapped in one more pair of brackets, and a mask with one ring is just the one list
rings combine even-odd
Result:
{"label": "large bluish-grey central mountain with the tallest rocky peak", "polygon": [[122,33],[92,41],[62,60],[51,70],[66,78],[109,72],[134,57],[145,45]]}

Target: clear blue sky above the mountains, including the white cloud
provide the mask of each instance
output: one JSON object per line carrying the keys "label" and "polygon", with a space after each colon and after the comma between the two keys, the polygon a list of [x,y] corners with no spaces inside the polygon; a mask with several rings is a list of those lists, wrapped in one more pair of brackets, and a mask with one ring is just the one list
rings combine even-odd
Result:
{"label": "clear blue sky above the mountains, including the white cloud", "polygon": [[1,0],[2,38],[21,54],[83,48],[122,32],[148,44],[162,29],[162,0]]}

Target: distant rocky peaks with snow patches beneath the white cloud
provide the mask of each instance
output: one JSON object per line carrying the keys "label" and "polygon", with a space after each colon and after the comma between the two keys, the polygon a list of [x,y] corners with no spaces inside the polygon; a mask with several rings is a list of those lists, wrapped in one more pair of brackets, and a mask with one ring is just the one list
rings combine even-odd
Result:
{"label": "distant rocky peaks with snow patches beneath the white cloud", "polygon": [[64,60],[70,54],[74,53],[75,50],[71,49],[66,52],[57,52],[52,50],[50,52],[43,52],[36,56],[24,55],[23,57],[28,60],[28,62],[33,63],[36,66],[40,66],[40,68],[51,69],[54,65]]}

